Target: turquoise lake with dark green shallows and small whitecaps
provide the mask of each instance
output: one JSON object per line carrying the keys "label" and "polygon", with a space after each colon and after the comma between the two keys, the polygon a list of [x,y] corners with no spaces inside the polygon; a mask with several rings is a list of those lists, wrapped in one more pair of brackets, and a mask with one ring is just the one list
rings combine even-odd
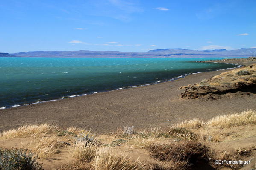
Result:
{"label": "turquoise lake with dark green shallows and small whitecaps", "polygon": [[222,58],[0,57],[0,107],[159,83],[235,67],[193,61]]}

